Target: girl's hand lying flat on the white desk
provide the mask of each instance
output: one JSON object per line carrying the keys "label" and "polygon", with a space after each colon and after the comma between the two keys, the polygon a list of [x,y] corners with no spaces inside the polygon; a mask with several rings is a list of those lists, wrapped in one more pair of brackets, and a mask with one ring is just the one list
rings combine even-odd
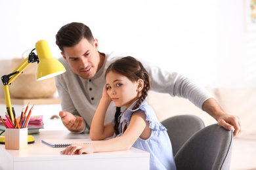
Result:
{"label": "girl's hand lying flat on the white desk", "polygon": [[62,154],[72,155],[72,154],[91,154],[93,153],[93,145],[91,144],[72,144],[63,150]]}

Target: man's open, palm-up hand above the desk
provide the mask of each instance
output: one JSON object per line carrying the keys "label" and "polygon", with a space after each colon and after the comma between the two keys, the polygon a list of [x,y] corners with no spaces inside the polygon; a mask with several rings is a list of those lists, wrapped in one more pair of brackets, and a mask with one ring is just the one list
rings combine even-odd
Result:
{"label": "man's open, palm-up hand above the desk", "polygon": [[75,117],[70,112],[62,112],[59,113],[62,123],[65,127],[67,127],[72,132],[81,132],[85,128],[85,123],[83,122],[83,118],[77,116]]}

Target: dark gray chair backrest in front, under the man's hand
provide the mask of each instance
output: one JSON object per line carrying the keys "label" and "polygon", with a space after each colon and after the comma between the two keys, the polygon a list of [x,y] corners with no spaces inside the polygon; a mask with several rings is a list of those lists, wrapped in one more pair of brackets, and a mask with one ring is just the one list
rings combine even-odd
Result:
{"label": "dark gray chair backrest in front, under the man's hand", "polygon": [[195,133],[175,155],[177,169],[230,169],[233,133],[218,124]]}

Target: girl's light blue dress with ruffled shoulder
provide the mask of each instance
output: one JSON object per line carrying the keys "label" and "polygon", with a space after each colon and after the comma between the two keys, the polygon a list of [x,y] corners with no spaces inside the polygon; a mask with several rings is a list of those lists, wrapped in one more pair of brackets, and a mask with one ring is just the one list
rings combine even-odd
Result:
{"label": "girl's light blue dress with ruffled shoulder", "polygon": [[[124,112],[121,112],[118,118],[119,135],[117,135],[117,137],[123,135],[123,127],[125,124],[127,124],[127,127],[129,126],[133,112],[143,110],[146,114],[146,120],[149,122],[150,128],[152,129],[152,133],[146,140],[140,139],[139,137],[133,144],[133,147],[150,153],[150,169],[175,170],[173,149],[167,134],[167,129],[158,121],[154,110],[146,103],[146,100],[143,101],[138,109],[132,110],[136,103],[137,101]],[[114,124],[114,120],[112,122]]]}

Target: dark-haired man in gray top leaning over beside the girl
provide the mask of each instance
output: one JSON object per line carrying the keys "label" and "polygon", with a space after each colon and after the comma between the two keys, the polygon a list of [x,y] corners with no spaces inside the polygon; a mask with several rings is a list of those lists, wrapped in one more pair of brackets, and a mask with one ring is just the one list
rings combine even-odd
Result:
{"label": "dark-haired man in gray top leaning over beside the girl", "polygon": [[[124,56],[98,52],[98,40],[94,39],[89,27],[77,22],[60,28],[56,34],[56,44],[63,56],[60,62],[66,67],[66,73],[55,78],[62,105],[59,115],[70,131],[81,133],[91,126],[106,84],[104,75],[108,65]],[[219,126],[228,130],[232,130],[233,126],[234,137],[238,135],[241,129],[239,118],[226,114],[204,88],[178,73],[142,63],[152,78],[152,90],[189,99],[213,116]],[[112,102],[105,122],[112,121],[115,109],[116,105]]]}

